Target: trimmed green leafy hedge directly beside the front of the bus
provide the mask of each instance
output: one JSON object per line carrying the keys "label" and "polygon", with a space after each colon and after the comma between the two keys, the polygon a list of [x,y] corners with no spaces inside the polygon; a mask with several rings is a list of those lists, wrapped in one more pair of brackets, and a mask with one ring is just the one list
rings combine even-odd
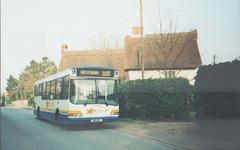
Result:
{"label": "trimmed green leafy hedge directly beside the front of the bus", "polygon": [[125,81],[119,85],[120,116],[137,119],[185,119],[189,81],[164,78]]}

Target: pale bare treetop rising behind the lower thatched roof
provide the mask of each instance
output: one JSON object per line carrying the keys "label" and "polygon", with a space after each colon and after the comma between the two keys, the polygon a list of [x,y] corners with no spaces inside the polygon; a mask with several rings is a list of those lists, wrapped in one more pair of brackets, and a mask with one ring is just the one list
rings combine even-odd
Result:
{"label": "pale bare treetop rising behind the lower thatched roof", "polygon": [[110,50],[110,49],[123,49],[123,40],[115,35],[100,33],[98,37],[91,38],[91,49]]}

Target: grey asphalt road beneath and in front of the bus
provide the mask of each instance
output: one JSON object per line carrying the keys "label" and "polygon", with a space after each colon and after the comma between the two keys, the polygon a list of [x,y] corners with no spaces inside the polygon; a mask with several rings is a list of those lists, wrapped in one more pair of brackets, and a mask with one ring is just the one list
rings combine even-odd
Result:
{"label": "grey asphalt road beneath and in front of the bus", "polygon": [[122,132],[105,123],[57,126],[37,120],[27,109],[1,108],[2,150],[172,150],[153,141]]}

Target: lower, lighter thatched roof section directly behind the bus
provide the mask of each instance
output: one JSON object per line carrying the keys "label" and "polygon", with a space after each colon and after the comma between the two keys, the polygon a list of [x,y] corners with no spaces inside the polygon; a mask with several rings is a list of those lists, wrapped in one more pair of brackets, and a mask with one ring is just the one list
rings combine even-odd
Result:
{"label": "lower, lighter thatched roof section directly behind the bus", "polygon": [[70,67],[95,66],[118,69],[124,79],[124,50],[79,50],[65,51],[58,72]]}

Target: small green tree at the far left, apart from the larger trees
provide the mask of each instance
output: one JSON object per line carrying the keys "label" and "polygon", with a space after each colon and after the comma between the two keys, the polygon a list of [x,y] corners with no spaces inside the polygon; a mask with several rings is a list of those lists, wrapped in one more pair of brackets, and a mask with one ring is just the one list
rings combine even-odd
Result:
{"label": "small green tree at the far left, apart from the larger trees", "polygon": [[6,91],[8,92],[9,98],[11,100],[16,99],[15,93],[17,91],[17,88],[18,88],[18,80],[15,79],[12,75],[10,75],[9,78],[7,79]]}

